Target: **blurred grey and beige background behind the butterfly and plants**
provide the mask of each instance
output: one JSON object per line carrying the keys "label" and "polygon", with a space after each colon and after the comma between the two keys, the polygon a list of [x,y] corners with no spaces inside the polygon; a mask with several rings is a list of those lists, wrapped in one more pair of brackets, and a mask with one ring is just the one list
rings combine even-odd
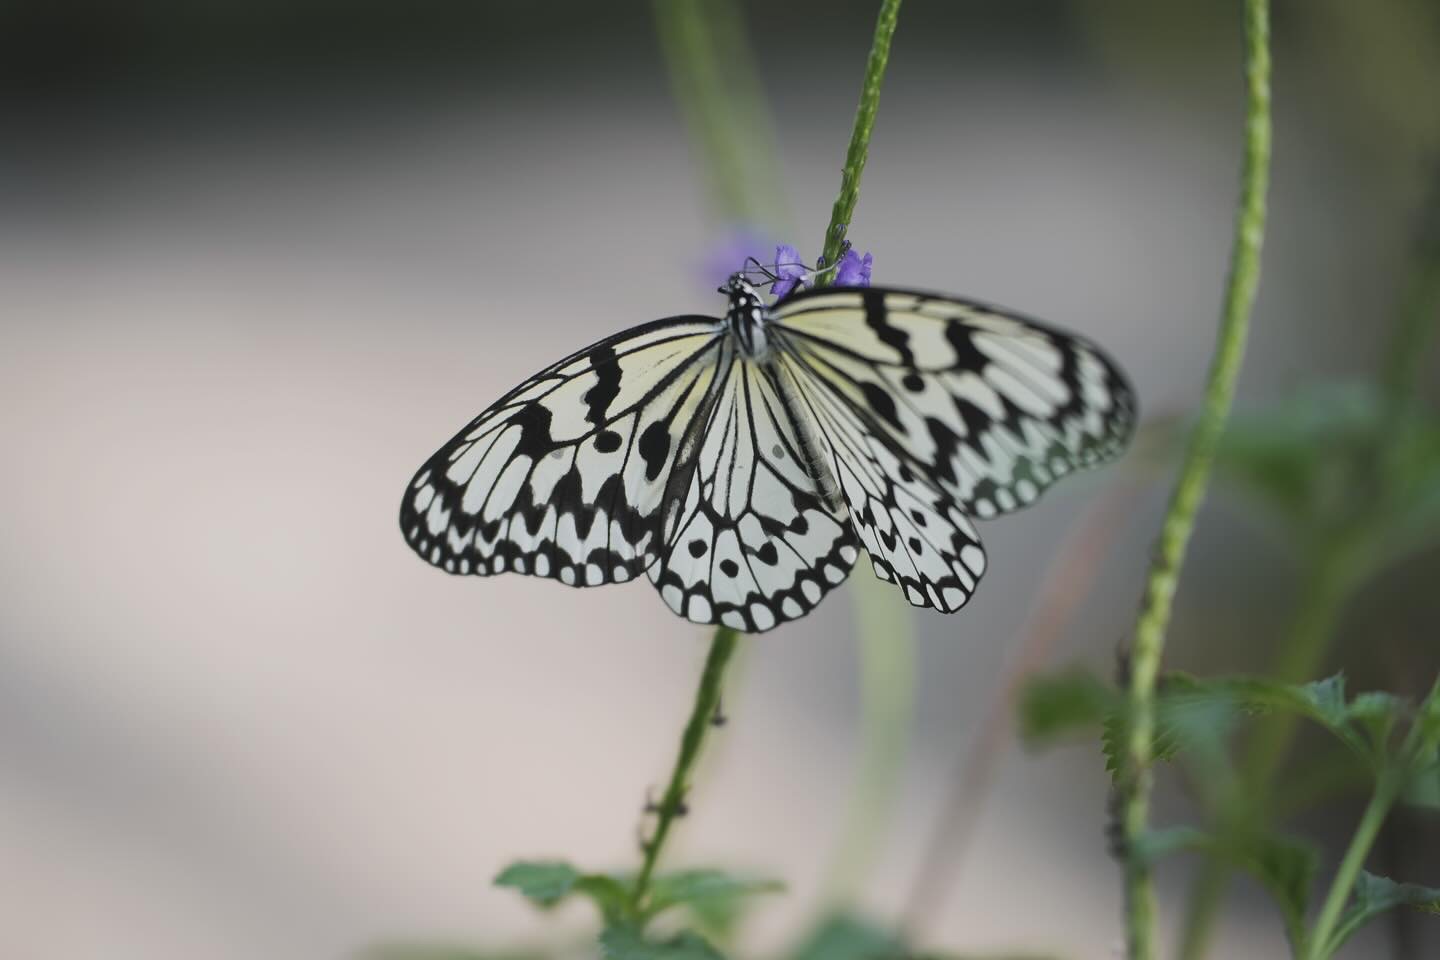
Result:
{"label": "blurred grey and beige background behind the butterfly and plants", "polygon": [[[779,161],[739,226],[814,258],[876,4],[743,9],[770,108],[739,131]],[[1274,22],[1246,416],[1387,368],[1440,170],[1433,1],[1292,0]],[[582,936],[585,908],[540,918],[490,881],[516,856],[636,861],[707,633],[644,583],[442,576],[396,511],[419,462],[524,376],[723,309],[704,265],[737,225],[649,6],[12,1],[0,78],[0,954]],[[1192,410],[1214,338],[1240,117],[1236,3],[901,12],[851,226],[876,282],[1084,332],[1161,426],[986,524],[985,589],[962,615],[913,616],[914,737],[854,891],[878,917],[907,908],[1047,577],[1079,564],[1089,583],[1045,664],[1107,672],[1128,636],[1171,476],[1164,425]],[[1436,370],[1418,363],[1421,397]],[[1217,486],[1169,662],[1266,669],[1305,557],[1264,502]],[[1315,675],[1416,695],[1440,668],[1440,550],[1420,537],[1387,557],[1335,603]],[[744,643],[667,855],[785,878],[752,951],[825,902],[860,743],[852,589]],[[1116,956],[1097,750],[1007,737],[999,760],[926,941]],[[1333,852],[1362,800],[1302,826]],[[1189,815],[1168,782],[1156,820]],[[1420,807],[1372,861],[1431,885],[1437,865]],[[1192,868],[1162,869],[1171,934]],[[1348,956],[1440,956],[1436,925],[1395,914]],[[1253,887],[1231,888],[1212,956],[1287,956]]]}

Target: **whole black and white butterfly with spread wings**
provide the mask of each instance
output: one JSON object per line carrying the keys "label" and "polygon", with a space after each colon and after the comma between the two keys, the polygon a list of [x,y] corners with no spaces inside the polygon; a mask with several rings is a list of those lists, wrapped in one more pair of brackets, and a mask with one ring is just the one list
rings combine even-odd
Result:
{"label": "whole black and white butterfly with spread wings", "polygon": [[982,304],[881,288],[671,317],[547,367],[415,475],[400,528],[456,574],[649,577],[696,623],[815,609],[864,547],[916,606],[985,573],[972,520],[1116,456],[1135,394],[1099,348]]}

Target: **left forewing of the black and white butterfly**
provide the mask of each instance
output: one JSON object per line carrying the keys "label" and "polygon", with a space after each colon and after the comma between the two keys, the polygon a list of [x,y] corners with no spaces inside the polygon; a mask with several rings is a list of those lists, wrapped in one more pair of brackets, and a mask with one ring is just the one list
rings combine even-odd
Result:
{"label": "left forewing of the black and white butterfly", "polygon": [[507,393],[416,472],[400,504],[410,547],[459,574],[638,576],[677,518],[723,338],[714,318],[655,321]]}

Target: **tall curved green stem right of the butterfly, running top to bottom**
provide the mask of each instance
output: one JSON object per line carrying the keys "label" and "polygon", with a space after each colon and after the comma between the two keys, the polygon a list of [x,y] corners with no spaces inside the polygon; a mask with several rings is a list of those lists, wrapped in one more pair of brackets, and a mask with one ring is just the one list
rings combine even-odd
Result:
{"label": "tall curved green stem right of the butterfly, running top to bottom", "polygon": [[[1270,178],[1270,4],[1246,0],[1246,147],[1241,167],[1240,210],[1230,258],[1220,337],[1200,420],[1191,430],[1179,478],[1161,528],[1159,545],[1135,625],[1130,653],[1128,763],[1120,793],[1120,829],[1126,849],[1135,851],[1149,820],[1151,746],[1155,737],[1155,681],[1165,649],[1171,606],[1179,583],[1185,547],[1195,514],[1205,497],[1210,468],[1230,416],[1236,377],[1244,358],[1246,332],[1260,282],[1260,248],[1264,240],[1266,191]],[[1151,868],[1140,858],[1125,858],[1126,941],[1129,956],[1155,956],[1155,891]]]}

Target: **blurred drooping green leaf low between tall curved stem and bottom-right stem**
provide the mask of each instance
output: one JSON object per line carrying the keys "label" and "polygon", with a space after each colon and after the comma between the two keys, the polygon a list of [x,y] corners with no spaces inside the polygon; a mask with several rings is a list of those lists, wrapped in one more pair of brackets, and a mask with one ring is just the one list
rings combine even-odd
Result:
{"label": "blurred drooping green leaf low between tall curved stem and bottom-right stem", "polygon": [[1210,833],[1192,826],[1151,830],[1136,841],[1140,858],[1153,862],[1178,852],[1200,852],[1250,874],[1274,900],[1292,944],[1305,937],[1319,853],[1306,841],[1276,833]]}

